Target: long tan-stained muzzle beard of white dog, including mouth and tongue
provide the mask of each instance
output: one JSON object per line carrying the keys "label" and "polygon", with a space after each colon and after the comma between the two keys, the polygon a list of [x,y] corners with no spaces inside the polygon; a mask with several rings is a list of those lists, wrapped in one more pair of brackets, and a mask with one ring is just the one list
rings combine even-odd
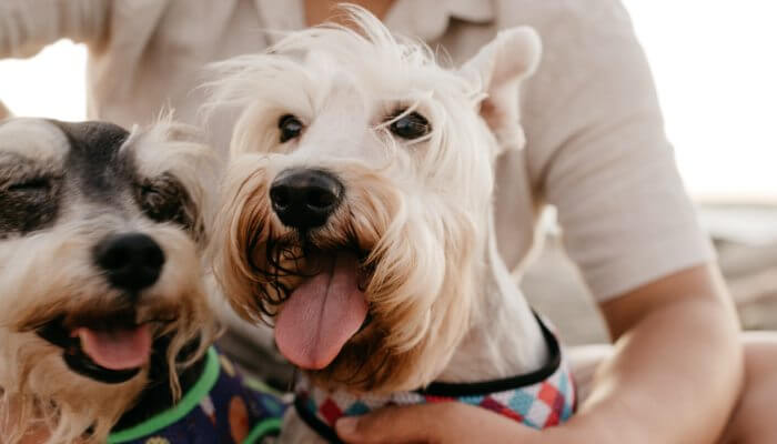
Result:
{"label": "long tan-stained muzzle beard of white dog, including mouth and tongue", "polygon": [[320,384],[389,392],[431,382],[466,331],[474,224],[464,214],[413,220],[424,213],[400,189],[341,167],[347,198],[326,225],[300,233],[272,213],[266,162],[233,164],[216,222],[216,276],[235,311],[274,319],[283,354]]}

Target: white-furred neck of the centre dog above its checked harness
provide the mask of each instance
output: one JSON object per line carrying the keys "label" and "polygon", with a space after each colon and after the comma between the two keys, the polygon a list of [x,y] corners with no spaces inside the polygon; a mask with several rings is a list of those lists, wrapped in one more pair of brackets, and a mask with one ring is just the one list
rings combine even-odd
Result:
{"label": "white-furred neck of the centre dog above its checked harness", "polygon": [[483,290],[472,327],[436,381],[467,383],[541,369],[547,344],[526,299],[507,271],[491,231],[482,272]]}

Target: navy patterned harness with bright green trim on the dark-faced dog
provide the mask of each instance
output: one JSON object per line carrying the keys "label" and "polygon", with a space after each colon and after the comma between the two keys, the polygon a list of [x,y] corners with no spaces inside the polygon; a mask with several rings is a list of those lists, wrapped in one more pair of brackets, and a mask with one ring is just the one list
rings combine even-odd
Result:
{"label": "navy patterned harness with bright green trim on the dark-faced dog", "polygon": [[261,382],[243,379],[215,349],[181,401],[153,417],[113,431],[109,444],[260,443],[278,436],[285,405]]}

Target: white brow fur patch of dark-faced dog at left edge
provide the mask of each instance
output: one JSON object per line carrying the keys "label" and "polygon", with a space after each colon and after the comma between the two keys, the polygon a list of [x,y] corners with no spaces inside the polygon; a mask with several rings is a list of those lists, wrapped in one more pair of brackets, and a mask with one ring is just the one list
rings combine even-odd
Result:
{"label": "white brow fur patch of dark-faced dog at left edge", "polygon": [[51,121],[18,118],[0,122],[0,154],[61,163],[69,151],[67,135]]}

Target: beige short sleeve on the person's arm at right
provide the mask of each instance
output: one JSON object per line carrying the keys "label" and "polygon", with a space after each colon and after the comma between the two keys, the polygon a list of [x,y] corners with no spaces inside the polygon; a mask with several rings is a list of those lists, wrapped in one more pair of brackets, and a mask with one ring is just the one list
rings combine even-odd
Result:
{"label": "beige short sleeve on the person's arm at right", "polygon": [[598,301],[714,260],[618,1],[563,2],[523,97],[529,175]]}

